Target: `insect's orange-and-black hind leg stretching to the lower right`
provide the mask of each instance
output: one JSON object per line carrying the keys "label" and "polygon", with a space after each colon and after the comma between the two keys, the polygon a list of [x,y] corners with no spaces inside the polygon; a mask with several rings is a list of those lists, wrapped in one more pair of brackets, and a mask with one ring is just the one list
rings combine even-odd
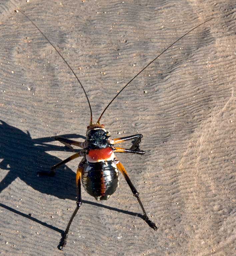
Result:
{"label": "insect's orange-and-black hind leg stretching to the lower right", "polygon": [[147,217],[146,211],[145,211],[145,209],[144,209],[144,207],[143,207],[143,204],[142,204],[142,202],[141,202],[141,200],[140,200],[140,198],[139,198],[139,193],[138,193],[138,191],[136,190],[136,188],[134,187],[134,185],[132,184],[132,182],[131,182],[131,180],[130,180],[130,178],[129,178],[129,176],[128,176],[128,173],[127,173],[127,171],[125,170],[125,167],[122,165],[121,162],[119,162],[118,164],[116,164],[116,166],[117,166],[118,170],[119,170],[119,171],[123,174],[123,176],[125,177],[126,182],[128,183],[128,185],[129,185],[131,191],[133,192],[133,195],[137,198],[137,200],[138,200],[138,202],[139,202],[139,204],[140,204],[140,206],[141,206],[141,208],[142,208],[142,210],[143,210],[143,216],[144,216],[143,219],[144,219],[145,222],[149,225],[149,227],[151,227],[151,228],[154,229],[154,230],[157,230],[156,224],[153,223],[151,220],[149,220],[149,218]]}

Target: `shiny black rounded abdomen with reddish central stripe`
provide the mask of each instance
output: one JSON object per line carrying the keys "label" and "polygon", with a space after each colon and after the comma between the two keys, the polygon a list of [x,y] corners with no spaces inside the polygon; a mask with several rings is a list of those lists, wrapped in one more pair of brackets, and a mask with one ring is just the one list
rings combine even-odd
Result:
{"label": "shiny black rounded abdomen with reddish central stripe", "polygon": [[107,200],[119,184],[119,172],[114,160],[83,165],[82,184],[84,189],[97,200]]}

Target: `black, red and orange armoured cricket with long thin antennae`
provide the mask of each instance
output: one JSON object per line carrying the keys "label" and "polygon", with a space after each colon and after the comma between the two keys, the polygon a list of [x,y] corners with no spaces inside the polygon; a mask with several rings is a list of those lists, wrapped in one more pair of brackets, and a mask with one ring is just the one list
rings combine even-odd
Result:
{"label": "black, red and orange armoured cricket with long thin antennae", "polygon": [[[18,11],[17,11],[18,12]],[[21,11],[19,11],[21,12]],[[27,19],[29,17],[21,12]],[[62,250],[66,246],[67,238],[68,238],[68,232],[70,225],[77,214],[77,211],[81,207],[82,199],[81,199],[81,183],[83,184],[84,189],[89,193],[91,196],[95,197],[96,200],[107,200],[117,189],[118,183],[119,183],[119,171],[123,174],[126,182],[128,183],[133,195],[138,200],[142,211],[143,211],[143,219],[144,221],[154,230],[157,230],[157,226],[155,223],[153,223],[147,216],[146,211],[144,209],[144,206],[140,200],[139,193],[132,184],[128,173],[125,169],[125,167],[122,165],[122,163],[118,160],[118,158],[115,156],[114,153],[132,153],[132,154],[140,154],[143,155],[145,152],[140,149],[141,134],[131,135],[127,137],[122,138],[116,138],[116,139],[110,139],[109,132],[105,129],[104,124],[100,123],[100,120],[104,114],[104,112],[107,110],[107,108],[110,106],[110,104],[116,99],[116,97],[128,86],[142,71],[144,71],[150,64],[152,64],[158,57],[160,57],[164,52],[166,52],[171,46],[173,46],[177,41],[179,41],[181,38],[183,38],[185,35],[196,29],[197,27],[201,26],[202,24],[212,20],[208,19],[201,24],[195,26],[191,30],[189,30],[187,33],[182,35],[180,38],[178,38],[173,44],[171,44],[168,48],[166,48],[163,52],[161,52],[156,58],[154,58],[150,63],[148,63],[138,74],[136,74],[116,95],[115,97],[110,101],[110,103],[105,107],[103,112],[101,113],[100,117],[98,118],[97,122],[93,122],[92,118],[92,109],[91,105],[88,99],[88,96],[86,94],[86,91],[81,84],[80,80],[74,73],[74,71],[71,69],[67,61],[63,58],[63,56],[59,53],[59,51],[53,46],[53,44],[49,41],[49,39],[41,32],[41,30],[34,24],[33,21],[31,23],[39,30],[39,32],[46,38],[46,40],[49,42],[49,44],[56,50],[56,52],[60,55],[60,57],[63,59],[63,61],[66,63],[66,65],[70,68],[76,79],[78,80],[81,88],[84,91],[84,94],[87,98],[89,108],[90,108],[90,122],[87,126],[86,131],[86,140],[84,142],[78,142],[70,139],[66,139],[60,136],[55,137],[55,140],[63,143],[64,145],[68,147],[77,146],[82,148],[78,153],[75,153],[74,155],[68,157],[67,159],[61,161],[60,163],[54,165],[51,167],[50,175],[55,175],[55,169],[62,164],[68,163],[69,161],[82,157],[82,160],[80,161],[76,173],[76,187],[77,187],[77,202],[76,202],[76,209],[74,210],[69,223],[67,225],[67,228],[64,232],[64,235],[62,237],[61,243],[59,248]],[[126,148],[119,148],[116,147],[116,144],[123,143],[126,141],[132,141],[132,146],[128,149]]]}

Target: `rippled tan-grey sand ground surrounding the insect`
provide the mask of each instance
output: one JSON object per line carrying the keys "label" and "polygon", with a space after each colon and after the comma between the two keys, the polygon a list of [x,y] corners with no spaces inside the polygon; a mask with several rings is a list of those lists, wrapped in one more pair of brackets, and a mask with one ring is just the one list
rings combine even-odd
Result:
{"label": "rippled tan-grey sand ground surrounding the insect", "polygon": [[[234,2],[234,3],[233,3]],[[235,255],[235,1],[1,1],[0,254]],[[135,74],[182,38],[119,95],[102,123],[112,138],[143,135],[143,156],[117,154],[125,179],[96,202],[82,189],[67,247],[61,233],[76,206],[76,159],[55,135],[83,141]],[[123,146],[123,145],[122,145]],[[125,146],[129,146],[126,144]]]}

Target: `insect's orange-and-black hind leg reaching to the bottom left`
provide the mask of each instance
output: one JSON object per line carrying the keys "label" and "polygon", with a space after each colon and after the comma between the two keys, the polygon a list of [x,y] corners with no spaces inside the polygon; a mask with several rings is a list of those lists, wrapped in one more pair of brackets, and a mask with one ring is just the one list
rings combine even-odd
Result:
{"label": "insect's orange-and-black hind leg reaching to the bottom left", "polygon": [[79,164],[79,167],[78,167],[77,173],[76,173],[76,188],[77,188],[77,201],[76,201],[76,204],[77,204],[77,206],[76,206],[76,209],[74,210],[74,212],[73,212],[73,214],[72,214],[72,216],[71,216],[71,218],[69,220],[69,223],[68,223],[68,225],[66,227],[64,235],[63,235],[63,237],[62,237],[62,239],[60,241],[60,245],[59,245],[59,249],[60,250],[63,250],[63,247],[66,246],[70,225],[71,225],[75,215],[77,214],[77,211],[79,210],[79,208],[80,208],[80,206],[82,204],[82,199],[81,199],[81,176],[82,176],[83,167],[80,166],[81,162]]}

